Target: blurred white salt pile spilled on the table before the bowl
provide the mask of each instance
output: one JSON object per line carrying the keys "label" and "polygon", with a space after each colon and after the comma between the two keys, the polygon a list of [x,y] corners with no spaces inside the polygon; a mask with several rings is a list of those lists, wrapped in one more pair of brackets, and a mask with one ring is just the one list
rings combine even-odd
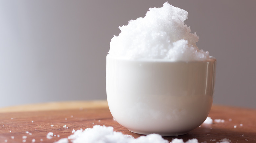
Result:
{"label": "blurred white salt pile spilled on the table before the bowl", "polygon": [[[68,138],[62,138],[56,143],[169,143],[158,134],[140,136],[137,139],[121,132],[114,132],[113,127],[95,125],[93,128],[77,130]],[[182,142],[181,142],[182,141]],[[172,143],[184,143],[182,139],[174,139]],[[188,140],[186,143],[198,143],[197,139]]]}

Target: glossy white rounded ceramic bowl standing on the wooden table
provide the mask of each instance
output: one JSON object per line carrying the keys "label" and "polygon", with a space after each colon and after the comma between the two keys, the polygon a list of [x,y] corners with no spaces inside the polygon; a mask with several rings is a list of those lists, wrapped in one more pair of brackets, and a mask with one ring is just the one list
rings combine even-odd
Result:
{"label": "glossy white rounded ceramic bowl standing on the wooden table", "polygon": [[114,119],[138,134],[183,135],[207,118],[216,59],[128,60],[107,55],[107,100]]}

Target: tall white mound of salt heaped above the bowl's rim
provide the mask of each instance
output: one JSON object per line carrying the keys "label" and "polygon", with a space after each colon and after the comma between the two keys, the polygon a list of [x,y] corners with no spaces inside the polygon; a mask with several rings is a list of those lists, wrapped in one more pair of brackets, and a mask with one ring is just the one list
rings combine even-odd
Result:
{"label": "tall white mound of salt heaped above the bowl's rim", "polygon": [[198,49],[199,37],[184,24],[187,16],[187,11],[167,2],[161,8],[149,8],[144,18],[119,27],[109,54],[126,59],[205,60],[209,52]]}

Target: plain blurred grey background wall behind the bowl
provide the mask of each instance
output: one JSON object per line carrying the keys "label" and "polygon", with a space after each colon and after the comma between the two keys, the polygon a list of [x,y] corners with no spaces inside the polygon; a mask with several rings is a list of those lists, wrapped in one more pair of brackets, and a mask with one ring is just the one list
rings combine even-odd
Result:
{"label": "plain blurred grey background wall behind the bowl", "polygon": [[[163,0],[0,1],[0,107],[105,100],[118,26]],[[256,108],[256,1],[169,1],[217,58],[214,104]]]}

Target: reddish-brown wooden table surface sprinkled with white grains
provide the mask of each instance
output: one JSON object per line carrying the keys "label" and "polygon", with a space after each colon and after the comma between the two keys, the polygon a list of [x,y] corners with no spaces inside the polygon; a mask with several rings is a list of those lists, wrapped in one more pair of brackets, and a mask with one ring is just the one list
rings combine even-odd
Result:
{"label": "reddish-brown wooden table surface sprinkled with white grains", "polygon": [[[224,119],[224,122],[203,124],[186,135],[164,138],[169,141],[172,138],[184,141],[197,138],[199,142],[207,143],[228,138],[233,143],[256,143],[256,109],[213,105],[209,117]],[[141,136],[113,120],[106,101],[78,101],[0,108],[0,143],[31,143],[32,139],[52,143],[68,137],[73,129],[92,128],[94,125],[113,126],[114,131],[135,138]],[[52,139],[46,138],[49,132],[55,135]]]}

